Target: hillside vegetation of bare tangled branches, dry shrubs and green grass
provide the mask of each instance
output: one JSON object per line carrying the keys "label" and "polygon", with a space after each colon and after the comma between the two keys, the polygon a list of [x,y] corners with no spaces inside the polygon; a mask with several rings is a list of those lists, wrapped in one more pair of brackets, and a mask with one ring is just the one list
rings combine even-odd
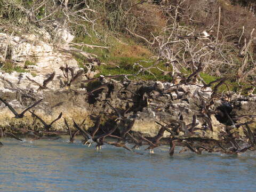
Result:
{"label": "hillside vegetation of bare tangled branches, dry shrubs and green grass", "polygon": [[[93,70],[101,75],[136,74],[161,58],[158,68],[138,77],[171,81],[202,63],[206,82],[226,76],[241,83],[255,81],[255,9],[254,1],[243,0],[0,0],[0,22],[8,24],[0,30],[41,27],[51,33],[58,18],[58,26],[69,28],[84,52],[97,55],[101,65]],[[74,57],[87,70],[88,58]],[[171,73],[163,75],[166,70]]]}

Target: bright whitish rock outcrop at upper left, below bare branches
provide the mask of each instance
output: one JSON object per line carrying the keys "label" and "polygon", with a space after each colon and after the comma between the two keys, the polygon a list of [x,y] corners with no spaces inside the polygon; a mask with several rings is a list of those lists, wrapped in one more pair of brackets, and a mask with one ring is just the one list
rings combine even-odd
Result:
{"label": "bright whitish rock outcrop at upper left, below bare branches", "polygon": [[[33,61],[33,65],[26,68],[31,73],[46,75],[55,73],[60,75],[59,69],[66,64],[69,67],[78,68],[77,62],[71,54],[60,52],[51,43],[57,38],[61,44],[67,44],[74,39],[67,29],[56,28],[55,36],[51,36],[44,29],[38,29],[35,34],[12,35],[0,33],[0,61],[10,59],[18,66],[24,67],[25,61]],[[6,55],[6,50],[8,54]]]}

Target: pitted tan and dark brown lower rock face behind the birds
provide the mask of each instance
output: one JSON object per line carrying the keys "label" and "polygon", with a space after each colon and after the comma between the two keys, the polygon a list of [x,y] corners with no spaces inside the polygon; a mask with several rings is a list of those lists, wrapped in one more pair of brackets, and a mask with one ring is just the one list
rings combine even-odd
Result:
{"label": "pitted tan and dark brown lower rock face behind the birds", "polygon": [[[33,108],[34,112],[41,116],[47,123],[53,121],[62,112],[63,117],[67,119],[68,123],[73,124],[73,119],[81,123],[85,119],[84,128],[89,129],[95,122],[92,121],[91,116],[98,116],[100,113],[104,114],[102,126],[114,126],[118,121],[118,114],[111,107],[113,106],[121,114],[124,115],[127,121],[135,119],[132,127],[133,132],[140,132],[147,137],[154,137],[161,125],[169,124],[172,120],[180,119],[189,125],[193,122],[193,115],[197,115],[196,127],[198,128],[189,137],[210,137],[218,139],[221,131],[226,129],[226,125],[220,123],[215,117],[214,113],[218,113],[219,106],[223,105],[221,101],[214,101],[214,105],[210,107],[212,115],[211,119],[213,131],[210,131],[209,123],[202,116],[202,99],[207,100],[211,96],[211,89],[201,90],[197,85],[180,85],[173,86],[172,83],[167,82],[143,82],[143,81],[116,81],[114,79],[103,77],[99,82],[91,84],[84,84],[77,82],[71,85],[68,89],[61,88],[58,77],[55,77],[53,83],[49,85],[50,89],[41,90],[37,92],[37,85],[31,85],[25,78],[20,77],[20,83],[16,78],[9,79],[15,86],[3,79],[8,79],[5,74],[0,81],[1,98],[10,102],[18,111],[24,110],[27,106],[33,104],[36,100],[43,99],[43,101]],[[22,74],[24,76],[26,74]],[[15,77],[21,74],[14,75]],[[12,76],[13,77],[13,76]],[[14,81],[15,80],[15,81]],[[37,77],[37,81],[43,81],[43,78]],[[14,88],[13,88],[14,87]],[[15,88],[16,87],[16,88]],[[97,91],[93,91],[94,89]],[[93,93],[90,93],[93,91]],[[110,103],[110,105],[108,103]],[[238,114],[252,115],[255,111],[248,108],[255,105],[255,100],[250,101],[232,101],[233,112]],[[209,103],[206,102],[206,105]],[[238,105],[239,104],[239,105]],[[247,107],[246,107],[247,105]],[[43,127],[35,117],[30,113],[26,113],[26,117],[22,119],[12,118],[13,114],[3,103],[0,104],[0,122],[1,126],[9,129],[10,127]],[[242,111],[241,111],[242,110]],[[238,113],[239,111],[239,113]],[[230,112],[229,112],[230,113]],[[230,116],[232,114],[230,113]],[[127,126],[126,121],[121,121],[118,124],[118,129],[122,131]],[[60,119],[53,126],[54,129],[64,130],[65,125],[63,118]],[[179,131],[183,135],[184,132]],[[242,134],[242,132],[241,132]],[[165,132],[165,137],[170,133]]]}

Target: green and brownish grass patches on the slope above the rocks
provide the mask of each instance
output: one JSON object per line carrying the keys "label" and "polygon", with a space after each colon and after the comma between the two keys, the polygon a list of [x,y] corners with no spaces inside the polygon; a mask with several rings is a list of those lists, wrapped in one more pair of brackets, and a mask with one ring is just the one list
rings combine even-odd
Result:
{"label": "green and brownish grass patches on the slope above the rocks", "polygon": [[[99,75],[119,75],[119,74],[135,74],[140,69],[138,66],[133,67],[134,63],[140,63],[143,67],[149,67],[153,65],[156,61],[156,57],[154,58],[154,54],[147,49],[147,47],[137,44],[131,38],[123,38],[118,40],[116,37],[110,37],[110,41],[108,43],[102,43],[99,39],[93,35],[91,37],[78,37],[75,39],[75,42],[83,42],[86,44],[94,44],[100,46],[109,46],[109,49],[101,49],[101,48],[90,48],[84,47],[83,51],[96,54],[98,59],[105,65],[97,66],[95,69],[100,71]],[[78,62],[79,67],[84,68],[87,70],[84,65],[88,61],[82,55],[74,54],[76,61]],[[143,61],[150,61],[150,62],[143,62]],[[158,67],[162,70],[167,70],[164,66],[165,62],[160,62]],[[118,67],[117,67],[118,66]],[[169,69],[170,70],[170,69]],[[142,80],[153,80],[153,81],[172,81],[171,76],[163,76],[162,71],[158,69],[150,69],[152,74],[149,74],[147,71],[144,73],[140,73],[137,77],[130,76],[131,79],[142,79]],[[185,71],[183,71],[185,73]],[[188,71],[186,71],[188,73]],[[188,74],[189,75],[189,74]],[[215,81],[219,77],[214,77],[206,73],[200,73],[201,77],[204,79],[206,83],[210,83]],[[237,83],[227,81],[227,84],[231,84],[234,86],[229,86],[230,91],[237,90]],[[213,85],[214,86],[214,85]],[[226,85],[222,85],[219,88],[220,92],[228,91]]]}

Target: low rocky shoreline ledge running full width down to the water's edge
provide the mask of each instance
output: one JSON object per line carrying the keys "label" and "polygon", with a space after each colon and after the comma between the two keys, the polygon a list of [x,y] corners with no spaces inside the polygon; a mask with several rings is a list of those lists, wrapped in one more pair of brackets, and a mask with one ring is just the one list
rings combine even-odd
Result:
{"label": "low rocky shoreline ledge running full width down to the water's edge", "polygon": [[[1,78],[4,85],[4,89],[0,90],[1,98],[19,111],[43,99],[33,111],[46,123],[52,122],[60,113],[63,115],[51,129],[44,130],[43,124],[28,112],[23,118],[13,118],[12,111],[1,102],[0,129],[3,132],[18,134],[20,137],[25,137],[28,132],[41,132],[41,136],[45,131],[47,132],[43,135],[65,134],[68,133],[65,121],[70,125],[71,132],[76,130],[75,126],[71,126],[73,120],[83,130],[92,132],[97,124],[95,119],[100,115],[100,134],[116,127],[113,134],[121,137],[122,132],[133,122],[130,127],[131,135],[138,139],[139,134],[139,140],[146,143],[143,139],[154,140],[158,137],[159,130],[164,127],[166,130],[161,133],[161,139],[165,139],[160,139],[160,143],[172,143],[175,140],[178,145],[188,147],[186,143],[191,142],[189,145],[193,148],[196,142],[197,145],[204,146],[202,150],[209,151],[209,148],[220,145],[220,141],[225,142],[222,147],[225,147],[227,153],[239,153],[242,150],[239,148],[243,148],[244,143],[247,143],[246,150],[254,150],[254,143],[250,145],[250,142],[253,142],[255,137],[250,138],[250,131],[245,128],[250,126],[253,135],[256,117],[253,110],[256,98],[253,96],[242,97],[230,93],[212,99],[213,91],[210,88],[203,89],[203,85],[199,83],[131,81],[126,76],[118,76],[117,79],[113,76],[101,76],[89,83],[81,76],[69,87],[60,86],[59,89],[37,92],[37,85],[28,81],[26,74],[20,74],[19,78],[20,85],[25,86],[23,81],[27,82],[26,88],[10,82],[6,76]],[[61,78],[55,78],[49,87],[63,81]],[[24,132],[26,134],[22,134]],[[126,137],[125,140],[132,141],[132,138]],[[242,147],[237,144],[239,147],[236,150],[228,150],[235,145],[233,140],[241,142]],[[195,147],[193,149],[196,151]]]}

